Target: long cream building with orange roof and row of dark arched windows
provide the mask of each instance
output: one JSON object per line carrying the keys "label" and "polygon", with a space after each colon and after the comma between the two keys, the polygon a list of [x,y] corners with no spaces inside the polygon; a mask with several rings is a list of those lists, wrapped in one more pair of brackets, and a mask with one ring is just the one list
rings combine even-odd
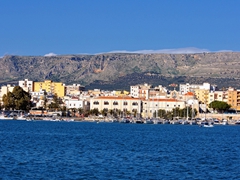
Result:
{"label": "long cream building with orange roof and row of dark arched windows", "polygon": [[141,99],[129,96],[99,96],[90,100],[90,109],[120,110],[122,112],[141,113]]}

